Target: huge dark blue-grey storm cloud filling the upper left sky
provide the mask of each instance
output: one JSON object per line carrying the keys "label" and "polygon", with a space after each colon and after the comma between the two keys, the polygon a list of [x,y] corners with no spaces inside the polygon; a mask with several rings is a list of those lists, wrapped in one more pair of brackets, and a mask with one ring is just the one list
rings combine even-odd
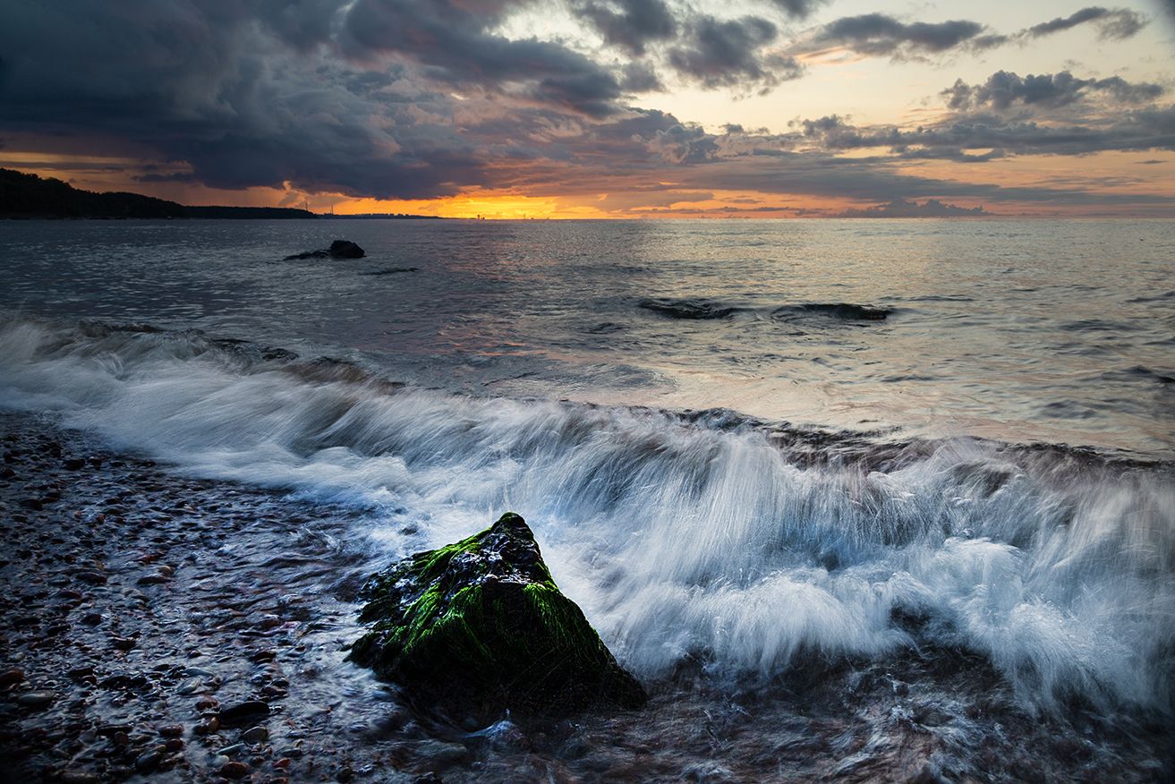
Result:
{"label": "huge dark blue-grey storm cloud filling the upper left sky", "polygon": [[186,162],[195,181],[221,188],[452,194],[488,182],[486,145],[462,133],[459,102],[429,82],[556,113],[619,110],[606,68],[488,32],[519,5],[8,4],[0,130],[74,135],[86,152],[115,140]]}

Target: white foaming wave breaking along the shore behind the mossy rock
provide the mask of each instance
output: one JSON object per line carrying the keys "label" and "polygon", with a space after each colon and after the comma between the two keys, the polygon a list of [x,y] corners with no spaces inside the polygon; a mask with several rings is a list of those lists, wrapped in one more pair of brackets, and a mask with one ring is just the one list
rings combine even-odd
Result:
{"label": "white foaming wave breaking along the shore behind the mossy rock", "polygon": [[464,397],[195,331],[21,319],[0,323],[0,403],[355,504],[383,557],[518,511],[645,678],[964,649],[1029,708],[1170,708],[1169,464]]}

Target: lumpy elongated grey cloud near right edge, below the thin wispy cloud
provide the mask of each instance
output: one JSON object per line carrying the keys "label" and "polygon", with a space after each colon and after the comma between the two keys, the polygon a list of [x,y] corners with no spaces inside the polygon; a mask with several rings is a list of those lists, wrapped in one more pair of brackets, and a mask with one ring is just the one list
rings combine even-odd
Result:
{"label": "lumpy elongated grey cloud near right edge, below the thin wispy cloud", "polygon": [[1120,103],[1144,103],[1164,93],[1160,85],[1128,82],[1121,76],[1107,79],[1077,79],[1068,71],[1056,74],[1020,76],[999,71],[982,85],[967,85],[961,79],[942,91],[947,107],[967,109],[986,107],[1002,110],[1013,103],[1039,107],[1061,107],[1097,93]]}

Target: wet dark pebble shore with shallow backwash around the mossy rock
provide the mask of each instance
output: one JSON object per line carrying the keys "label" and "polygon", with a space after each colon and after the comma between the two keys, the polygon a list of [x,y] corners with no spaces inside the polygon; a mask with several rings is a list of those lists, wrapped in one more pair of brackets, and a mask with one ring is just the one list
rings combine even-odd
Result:
{"label": "wet dark pebble shore with shallow backwash around the mossy rock", "polygon": [[[1162,717],[1033,717],[980,657],[645,684],[642,711],[490,728],[345,661],[385,565],[363,510],[186,478],[0,415],[0,779],[1163,780]],[[909,619],[916,629],[919,619]],[[1168,765],[1168,766],[1164,766]]]}

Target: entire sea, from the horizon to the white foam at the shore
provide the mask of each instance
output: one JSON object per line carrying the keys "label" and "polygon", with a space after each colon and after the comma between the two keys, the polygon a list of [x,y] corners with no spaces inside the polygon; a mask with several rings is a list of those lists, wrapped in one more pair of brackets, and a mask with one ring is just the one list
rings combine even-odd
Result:
{"label": "entire sea, from the horizon to the white foam at the shore", "polygon": [[[360,261],[280,261],[336,236]],[[922,645],[1170,710],[1175,222],[0,226],[0,402],[367,510],[502,510],[650,682]]]}

